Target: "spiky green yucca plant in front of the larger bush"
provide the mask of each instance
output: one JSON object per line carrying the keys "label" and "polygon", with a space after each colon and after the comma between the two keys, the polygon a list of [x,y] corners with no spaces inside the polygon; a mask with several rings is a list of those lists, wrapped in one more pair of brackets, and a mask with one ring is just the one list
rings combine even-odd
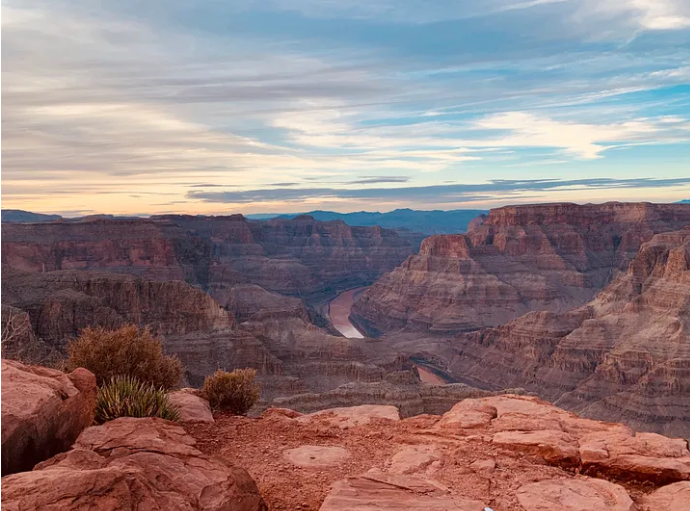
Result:
{"label": "spiky green yucca plant in front of the larger bush", "polygon": [[95,416],[98,424],[120,417],[160,417],[171,421],[180,418],[163,388],[132,376],[115,376],[98,389]]}

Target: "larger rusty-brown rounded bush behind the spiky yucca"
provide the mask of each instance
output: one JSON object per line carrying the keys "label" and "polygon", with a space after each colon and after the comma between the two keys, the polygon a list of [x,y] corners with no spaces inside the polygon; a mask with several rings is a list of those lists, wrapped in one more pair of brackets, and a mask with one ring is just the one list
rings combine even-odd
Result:
{"label": "larger rusty-brown rounded bush behind the spiky yucca", "polygon": [[131,376],[155,387],[169,389],[182,376],[182,363],[166,356],[160,339],[136,325],[117,330],[85,328],[67,346],[69,370],[84,367],[96,375],[98,385],[116,376]]}

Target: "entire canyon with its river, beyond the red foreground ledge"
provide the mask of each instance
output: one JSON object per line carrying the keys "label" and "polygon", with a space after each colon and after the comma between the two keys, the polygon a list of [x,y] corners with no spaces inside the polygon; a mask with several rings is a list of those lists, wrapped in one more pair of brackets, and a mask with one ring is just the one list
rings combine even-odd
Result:
{"label": "entire canyon with its river, beyond the red foreground ledge", "polygon": [[[467,233],[241,215],[2,226],[3,355],[59,359],[88,325],[147,326],[200,386],[251,367],[252,412],[538,395],[690,437],[690,206],[491,210]],[[7,313],[6,313],[7,312]]]}

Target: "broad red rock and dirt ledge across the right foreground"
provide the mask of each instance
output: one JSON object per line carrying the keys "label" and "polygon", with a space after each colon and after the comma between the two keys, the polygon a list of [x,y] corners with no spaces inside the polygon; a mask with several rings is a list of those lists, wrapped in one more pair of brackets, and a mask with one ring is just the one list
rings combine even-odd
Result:
{"label": "broad red rock and dirt ledge across the right foreground", "polygon": [[190,432],[246,466],[271,509],[667,511],[685,508],[690,481],[685,441],[529,396],[406,419],[388,406],[271,408]]}

